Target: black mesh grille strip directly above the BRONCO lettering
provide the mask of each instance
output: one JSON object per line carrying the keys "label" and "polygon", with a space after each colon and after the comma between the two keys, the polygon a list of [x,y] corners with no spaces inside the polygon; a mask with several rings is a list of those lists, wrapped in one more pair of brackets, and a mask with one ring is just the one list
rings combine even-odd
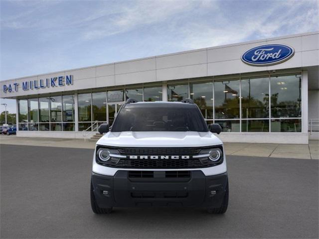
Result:
{"label": "black mesh grille strip directly above the BRONCO lettering", "polygon": [[129,155],[188,155],[198,154],[202,148],[117,148],[121,154]]}

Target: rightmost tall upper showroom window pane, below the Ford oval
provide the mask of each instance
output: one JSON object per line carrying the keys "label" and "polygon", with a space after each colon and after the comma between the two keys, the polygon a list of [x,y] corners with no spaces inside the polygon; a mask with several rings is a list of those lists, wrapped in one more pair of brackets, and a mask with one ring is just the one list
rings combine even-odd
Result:
{"label": "rightmost tall upper showroom window pane, below the Ford oval", "polygon": [[301,117],[301,76],[272,76],[271,118]]}

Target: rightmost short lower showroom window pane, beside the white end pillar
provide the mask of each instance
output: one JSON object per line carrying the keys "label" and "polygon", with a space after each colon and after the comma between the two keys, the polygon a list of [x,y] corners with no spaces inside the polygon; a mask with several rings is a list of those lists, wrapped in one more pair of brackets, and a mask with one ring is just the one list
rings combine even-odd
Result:
{"label": "rightmost short lower showroom window pane, beside the white end pillar", "polygon": [[301,119],[272,119],[271,132],[301,132]]}

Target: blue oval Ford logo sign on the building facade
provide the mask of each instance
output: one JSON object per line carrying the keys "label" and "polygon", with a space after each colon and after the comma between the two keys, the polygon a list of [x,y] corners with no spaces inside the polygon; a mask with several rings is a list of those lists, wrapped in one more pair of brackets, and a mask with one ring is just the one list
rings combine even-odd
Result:
{"label": "blue oval Ford logo sign on the building facade", "polygon": [[294,48],[288,45],[267,44],[246,51],[241,60],[252,66],[270,66],[287,61],[294,53]]}

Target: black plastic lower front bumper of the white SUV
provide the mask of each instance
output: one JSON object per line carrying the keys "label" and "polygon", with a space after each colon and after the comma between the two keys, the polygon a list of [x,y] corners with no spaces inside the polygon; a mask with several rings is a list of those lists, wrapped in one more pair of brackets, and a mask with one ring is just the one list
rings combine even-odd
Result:
{"label": "black plastic lower front bumper of the white SUV", "polygon": [[[159,171],[157,171],[159,172]],[[92,185],[100,208],[143,206],[191,206],[219,208],[224,198],[227,172],[205,176],[200,170],[187,177],[131,177],[129,170],[114,176],[92,173]]]}

